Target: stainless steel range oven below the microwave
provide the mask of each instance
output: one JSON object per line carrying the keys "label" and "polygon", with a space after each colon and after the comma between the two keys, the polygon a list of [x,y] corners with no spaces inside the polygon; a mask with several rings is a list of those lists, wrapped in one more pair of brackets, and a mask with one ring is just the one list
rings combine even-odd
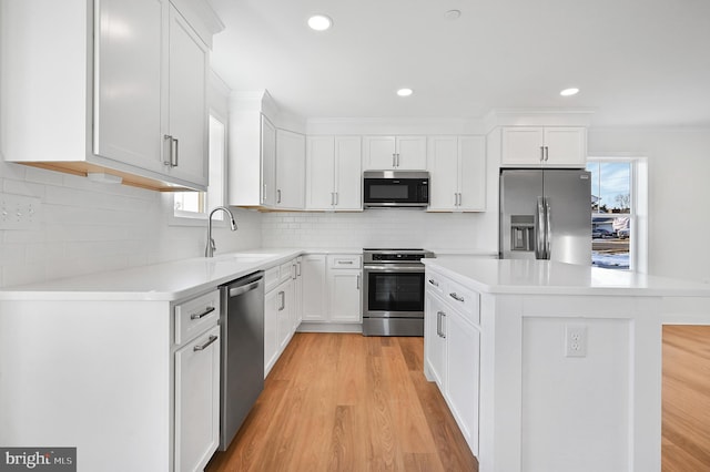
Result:
{"label": "stainless steel range oven below the microwave", "polygon": [[424,336],[424,249],[363,249],[363,335]]}

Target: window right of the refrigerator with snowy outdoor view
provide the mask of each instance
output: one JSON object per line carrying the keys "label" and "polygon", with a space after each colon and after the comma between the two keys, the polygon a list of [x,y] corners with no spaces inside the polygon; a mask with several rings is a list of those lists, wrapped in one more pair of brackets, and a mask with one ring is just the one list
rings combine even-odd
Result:
{"label": "window right of the refrigerator with snowy outdoor view", "polygon": [[590,157],[592,265],[646,271],[646,161]]}

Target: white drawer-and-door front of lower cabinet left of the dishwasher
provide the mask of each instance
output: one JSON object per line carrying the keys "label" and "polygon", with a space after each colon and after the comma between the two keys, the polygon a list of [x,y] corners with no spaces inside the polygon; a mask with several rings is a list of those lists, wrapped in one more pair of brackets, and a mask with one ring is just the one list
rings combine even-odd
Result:
{"label": "white drawer-and-door front of lower cabinet left of the dishwasher", "polygon": [[220,293],[178,304],[174,470],[202,471],[220,443]]}

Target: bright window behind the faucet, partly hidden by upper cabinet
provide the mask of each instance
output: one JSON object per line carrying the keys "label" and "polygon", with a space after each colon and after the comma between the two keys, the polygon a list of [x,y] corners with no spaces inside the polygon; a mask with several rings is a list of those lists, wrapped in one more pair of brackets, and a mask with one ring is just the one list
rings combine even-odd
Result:
{"label": "bright window behind the faucet, partly hidden by upper cabinet", "polygon": [[[210,186],[207,192],[175,192],[174,216],[179,218],[205,218],[207,211],[224,205],[224,161],[226,130],[222,121],[210,115]],[[222,212],[213,218],[222,219]]]}

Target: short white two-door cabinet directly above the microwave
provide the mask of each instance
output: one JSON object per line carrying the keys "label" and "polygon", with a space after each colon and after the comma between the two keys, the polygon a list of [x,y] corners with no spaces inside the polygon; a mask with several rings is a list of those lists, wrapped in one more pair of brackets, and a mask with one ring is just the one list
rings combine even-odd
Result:
{"label": "short white two-door cabinet directly above the microwave", "polygon": [[363,171],[423,171],[426,136],[365,136]]}

